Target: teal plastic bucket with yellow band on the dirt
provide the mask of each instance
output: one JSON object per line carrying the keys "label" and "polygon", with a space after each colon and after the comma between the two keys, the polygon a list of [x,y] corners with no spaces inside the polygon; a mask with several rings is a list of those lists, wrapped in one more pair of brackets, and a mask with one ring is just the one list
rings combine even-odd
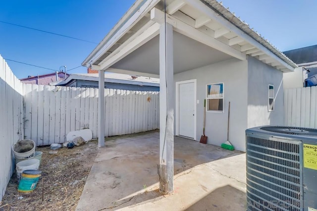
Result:
{"label": "teal plastic bucket with yellow band on the dirt", "polygon": [[25,170],[22,173],[22,178],[18,186],[18,192],[29,193],[35,190],[40,179],[42,171],[40,170]]}

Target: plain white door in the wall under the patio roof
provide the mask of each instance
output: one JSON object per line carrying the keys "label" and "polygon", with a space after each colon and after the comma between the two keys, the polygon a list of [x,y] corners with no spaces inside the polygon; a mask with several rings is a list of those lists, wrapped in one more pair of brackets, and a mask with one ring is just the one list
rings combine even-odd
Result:
{"label": "plain white door in the wall under the patio roof", "polygon": [[178,84],[178,135],[195,138],[195,83]]}

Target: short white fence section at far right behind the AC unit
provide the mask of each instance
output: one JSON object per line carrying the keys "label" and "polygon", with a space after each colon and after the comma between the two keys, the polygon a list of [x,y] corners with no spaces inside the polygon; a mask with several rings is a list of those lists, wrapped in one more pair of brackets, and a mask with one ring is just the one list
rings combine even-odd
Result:
{"label": "short white fence section at far right behind the AC unit", "polygon": [[284,91],[284,123],[287,126],[317,128],[317,87]]}

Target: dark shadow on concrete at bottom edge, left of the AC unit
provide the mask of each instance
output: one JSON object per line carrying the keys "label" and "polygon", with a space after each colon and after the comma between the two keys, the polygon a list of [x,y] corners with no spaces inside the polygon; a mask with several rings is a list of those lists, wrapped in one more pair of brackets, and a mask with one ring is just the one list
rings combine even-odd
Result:
{"label": "dark shadow on concrete at bottom edge, left of the AC unit", "polygon": [[[246,194],[231,185],[215,189],[191,205],[186,211],[240,211],[246,210]],[[239,207],[238,207],[239,206]]]}

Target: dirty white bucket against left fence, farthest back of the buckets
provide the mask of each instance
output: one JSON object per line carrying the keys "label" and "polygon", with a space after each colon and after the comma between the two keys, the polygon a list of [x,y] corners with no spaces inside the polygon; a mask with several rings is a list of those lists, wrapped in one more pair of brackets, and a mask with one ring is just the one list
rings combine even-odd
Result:
{"label": "dirty white bucket against left fence, farthest back of the buckets", "polygon": [[30,139],[18,141],[12,146],[12,151],[16,159],[29,158],[34,156],[35,142]]}

